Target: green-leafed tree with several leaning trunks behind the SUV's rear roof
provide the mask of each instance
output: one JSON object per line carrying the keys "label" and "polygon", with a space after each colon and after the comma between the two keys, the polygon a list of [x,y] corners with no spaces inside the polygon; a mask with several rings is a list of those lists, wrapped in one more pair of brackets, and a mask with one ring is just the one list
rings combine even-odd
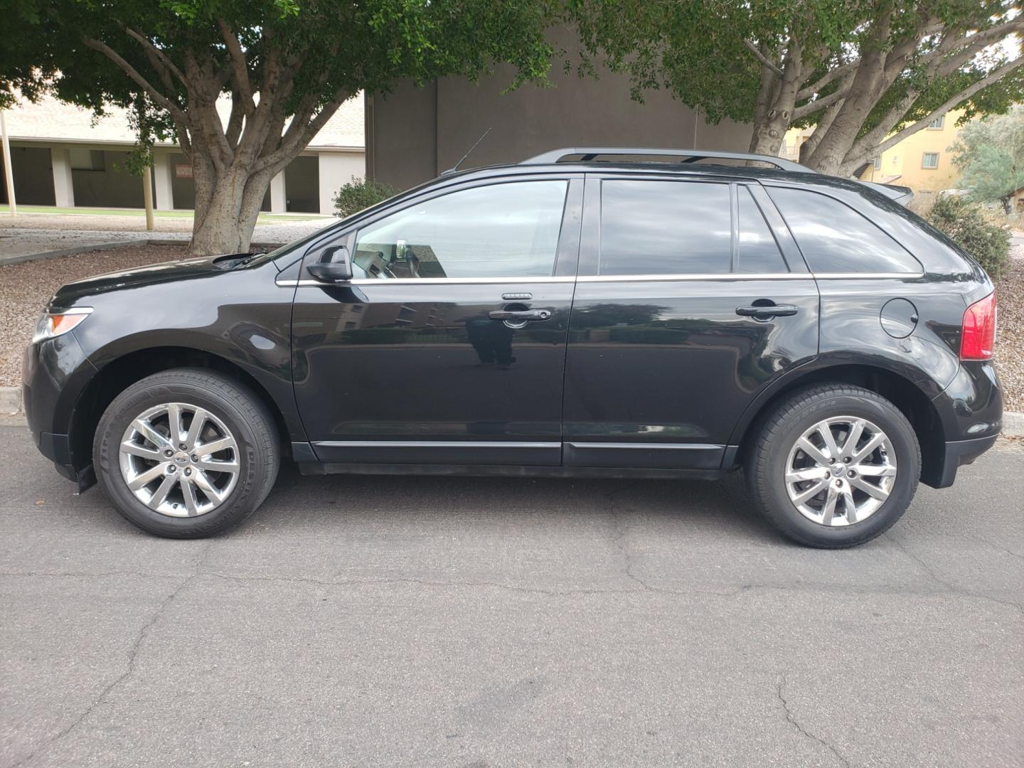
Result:
{"label": "green-leafed tree with several leaning trunks behind the SUV's rear roof", "polygon": [[1005,112],[1024,95],[1024,55],[993,45],[1024,31],[1021,0],[569,0],[581,71],[603,58],[635,98],[668,88],[712,122],[753,124],[777,155],[813,125],[801,161],[836,174],[935,117]]}

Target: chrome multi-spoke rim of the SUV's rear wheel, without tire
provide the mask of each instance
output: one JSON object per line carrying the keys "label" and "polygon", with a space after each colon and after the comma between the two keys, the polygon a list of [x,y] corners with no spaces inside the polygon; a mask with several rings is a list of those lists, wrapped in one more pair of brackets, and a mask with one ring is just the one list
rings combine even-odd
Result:
{"label": "chrome multi-spoke rim of the SUV's rear wheel, without tire", "polygon": [[821,525],[867,519],[895,482],[896,455],[889,437],[855,416],[819,421],[797,439],[785,461],[790,501]]}

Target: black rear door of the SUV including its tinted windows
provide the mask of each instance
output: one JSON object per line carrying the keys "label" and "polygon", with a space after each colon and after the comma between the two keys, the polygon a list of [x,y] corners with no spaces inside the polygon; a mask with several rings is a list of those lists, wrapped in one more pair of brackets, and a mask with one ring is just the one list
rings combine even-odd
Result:
{"label": "black rear door of the SUV including its tinted windows", "polygon": [[564,463],[715,469],[748,404],[817,354],[818,290],[756,182],[588,176]]}

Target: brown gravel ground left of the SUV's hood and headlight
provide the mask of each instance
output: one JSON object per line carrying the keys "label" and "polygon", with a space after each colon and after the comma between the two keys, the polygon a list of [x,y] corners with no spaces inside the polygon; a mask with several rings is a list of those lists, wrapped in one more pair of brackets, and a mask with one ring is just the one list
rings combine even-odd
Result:
{"label": "brown gravel ground left of the SUV's hood and headlight", "polygon": [[22,353],[39,311],[65,283],[184,258],[185,246],[138,246],[0,266],[0,386],[22,381]]}

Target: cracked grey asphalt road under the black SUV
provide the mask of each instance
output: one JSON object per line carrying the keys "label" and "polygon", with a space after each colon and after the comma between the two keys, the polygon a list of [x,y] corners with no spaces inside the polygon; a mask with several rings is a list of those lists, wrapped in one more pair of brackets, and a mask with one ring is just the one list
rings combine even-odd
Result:
{"label": "cracked grey asphalt road under the black SUV", "polygon": [[291,468],[171,542],[0,426],[0,765],[1024,765],[1022,470],[838,552],[738,481]]}

